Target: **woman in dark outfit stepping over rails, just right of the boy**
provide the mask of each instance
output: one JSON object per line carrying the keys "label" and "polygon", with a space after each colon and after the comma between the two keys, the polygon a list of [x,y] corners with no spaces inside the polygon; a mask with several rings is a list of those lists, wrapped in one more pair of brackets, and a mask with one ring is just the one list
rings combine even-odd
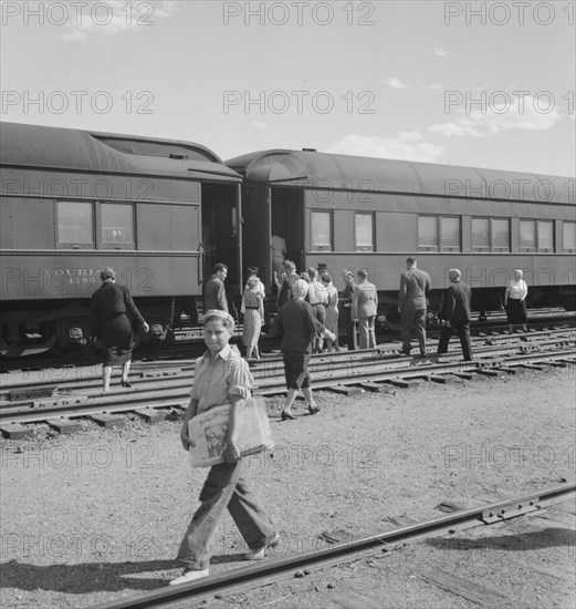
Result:
{"label": "woman in dark outfit stepping over rails, just right of the boy", "polygon": [[327,339],[336,337],[326,330],[314,317],[312,307],[304,300],[308,291],[308,285],[299,279],[292,287],[292,298],[280,308],[272,327],[268,332],[271,338],[282,337],[282,357],[284,360],[284,375],[286,378],[287,395],[282,411],[282,421],[293,420],[292,405],[302,389],[311,414],[316,414],[320,409],[314,401],[308,373],[312,341],[316,330]]}

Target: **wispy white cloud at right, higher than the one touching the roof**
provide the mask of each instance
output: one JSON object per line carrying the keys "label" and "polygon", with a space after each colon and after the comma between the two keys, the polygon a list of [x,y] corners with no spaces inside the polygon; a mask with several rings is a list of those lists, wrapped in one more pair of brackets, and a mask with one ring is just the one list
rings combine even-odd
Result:
{"label": "wispy white cloud at right, higher than the one touching the roof", "polygon": [[[470,104],[470,110],[480,105],[476,102]],[[548,110],[544,107],[544,110]],[[464,110],[455,111],[460,117],[450,123],[437,123],[430,125],[428,131],[440,133],[446,136],[455,137],[486,137],[502,131],[524,130],[524,131],[545,131],[554,126],[561,118],[557,110],[542,112],[538,110],[538,103],[526,95],[522,101],[515,99],[510,103],[494,103],[489,101],[481,105],[480,110],[471,110],[464,113]]]}

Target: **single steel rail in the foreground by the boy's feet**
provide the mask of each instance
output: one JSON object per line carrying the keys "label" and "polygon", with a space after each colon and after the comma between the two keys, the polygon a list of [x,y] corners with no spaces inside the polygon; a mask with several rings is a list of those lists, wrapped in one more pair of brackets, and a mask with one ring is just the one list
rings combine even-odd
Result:
{"label": "single steel rail in the foreground by the boy's feet", "polygon": [[512,499],[463,509],[449,516],[433,518],[416,525],[395,528],[356,541],[335,544],[314,553],[292,558],[266,560],[256,566],[233,569],[222,575],[209,576],[189,584],[168,586],[127,599],[105,602],[97,605],[94,609],[158,609],[172,607],[184,601],[198,602],[206,597],[238,586],[251,585],[252,588],[258,587],[259,581],[280,578],[299,569],[324,568],[334,562],[352,559],[359,553],[374,550],[375,548],[381,548],[386,551],[392,544],[410,543],[474,526],[490,525],[531,512],[537,512],[555,502],[565,502],[574,497],[576,497],[576,484],[568,483]]}

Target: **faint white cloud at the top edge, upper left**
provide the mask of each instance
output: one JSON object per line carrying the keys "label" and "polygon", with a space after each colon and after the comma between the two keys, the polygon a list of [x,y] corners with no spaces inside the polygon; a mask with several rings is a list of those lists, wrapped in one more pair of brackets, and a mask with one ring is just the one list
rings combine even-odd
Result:
{"label": "faint white cloud at the top edge, upper left", "polygon": [[[142,31],[154,27],[158,19],[171,17],[178,9],[175,0],[156,2],[100,2],[91,7],[78,2],[70,8],[62,24],[65,30],[59,38],[77,41],[88,34],[114,35],[126,31]],[[98,7],[100,4],[100,7]],[[59,14],[60,19],[60,14]]]}

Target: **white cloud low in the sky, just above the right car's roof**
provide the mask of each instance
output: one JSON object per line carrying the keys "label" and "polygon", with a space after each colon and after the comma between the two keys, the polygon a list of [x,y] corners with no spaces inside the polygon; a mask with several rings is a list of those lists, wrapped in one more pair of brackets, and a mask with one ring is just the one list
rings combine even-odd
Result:
{"label": "white cloud low in the sky, just above the right car's roof", "polygon": [[334,144],[328,151],[333,154],[399,158],[402,161],[434,162],[443,152],[442,146],[422,142],[417,131],[398,132],[396,137],[350,134]]}

